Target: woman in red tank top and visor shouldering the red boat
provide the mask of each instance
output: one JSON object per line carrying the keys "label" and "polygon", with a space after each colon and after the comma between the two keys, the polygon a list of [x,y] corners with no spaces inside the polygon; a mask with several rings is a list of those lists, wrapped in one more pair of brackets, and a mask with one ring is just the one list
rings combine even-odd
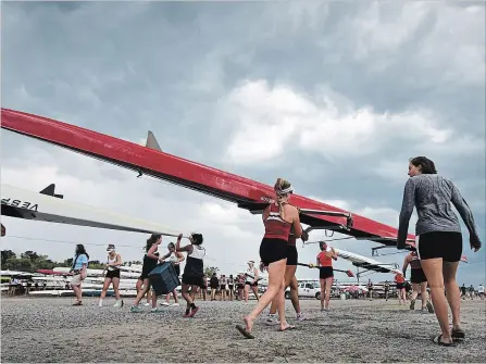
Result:
{"label": "woman in red tank top and visor shouldering the red boat", "polygon": [[294,328],[285,319],[285,268],[287,263],[287,242],[290,228],[294,227],[294,236],[299,239],[302,235],[300,226],[299,211],[290,205],[288,200],[292,193],[290,184],[278,178],[275,186],[276,199],[263,211],[263,225],[265,235],[260,244],[260,259],[269,271],[269,287],[262,294],[253,311],[244,317],[245,326],[236,325],[238,331],[246,338],[253,339],[251,329],[257,317],[262,311],[276,299],[279,330],[284,331]]}

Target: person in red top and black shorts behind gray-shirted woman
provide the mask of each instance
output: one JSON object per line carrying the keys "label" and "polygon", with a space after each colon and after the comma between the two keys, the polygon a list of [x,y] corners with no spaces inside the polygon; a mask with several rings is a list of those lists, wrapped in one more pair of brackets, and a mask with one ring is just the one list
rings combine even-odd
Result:
{"label": "person in red top and black shorts behind gray-shirted woman", "polygon": [[407,268],[410,265],[410,283],[412,284],[412,299],[410,301],[410,310],[415,310],[415,300],[419,296],[419,286],[422,299],[422,310],[427,309],[429,313],[434,313],[434,307],[428,301],[427,277],[425,277],[420,259],[416,251],[411,251],[403,261],[403,277],[407,276]]}

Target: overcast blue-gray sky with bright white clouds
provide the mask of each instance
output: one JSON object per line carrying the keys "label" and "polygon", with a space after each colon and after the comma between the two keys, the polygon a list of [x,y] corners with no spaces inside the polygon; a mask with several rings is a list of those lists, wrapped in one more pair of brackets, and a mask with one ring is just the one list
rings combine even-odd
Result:
{"label": "overcast blue-gray sky with bright white clouds", "polygon": [[[4,108],[134,142],[150,129],[167,153],[270,185],[282,176],[299,194],[392,226],[408,160],[426,155],[460,188],[486,242],[484,3],[4,2],[1,57]],[[65,200],[201,231],[205,264],[225,274],[260,260],[260,217],[230,203],[5,130],[1,160],[2,183],[55,183]],[[140,260],[147,239],[2,222],[2,249],[54,260],[75,242],[91,259],[115,243]],[[458,283],[484,284],[486,250],[474,254],[463,231],[470,263]],[[335,243],[367,256],[376,246]],[[315,261],[315,244],[298,248],[300,262]]]}

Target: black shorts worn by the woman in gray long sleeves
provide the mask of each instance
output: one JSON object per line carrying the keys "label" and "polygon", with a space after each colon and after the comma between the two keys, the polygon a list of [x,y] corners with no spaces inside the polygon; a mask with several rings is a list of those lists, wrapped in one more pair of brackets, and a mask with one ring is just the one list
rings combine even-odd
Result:
{"label": "black shorts worn by the woman in gray long sleeves", "polygon": [[421,261],[441,258],[445,262],[459,262],[462,255],[462,234],[454,231],[431,231],[416,237]]}

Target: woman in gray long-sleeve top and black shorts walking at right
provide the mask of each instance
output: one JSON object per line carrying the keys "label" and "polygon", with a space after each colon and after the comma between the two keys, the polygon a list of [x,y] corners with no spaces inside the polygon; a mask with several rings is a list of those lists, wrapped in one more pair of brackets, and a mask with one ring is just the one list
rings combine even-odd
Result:
{"label": "woman in gray long-sleeve top and black shorts walking at right", "polygon": [[[416,208],[419,215],[415,226],[416,249],[443,331],[434,338],[434,342],[451,346],[453,339],[464,338],[460,317],[461,298],[456,283],[456,273],[462,254],[462,234],[451,203],[468,227],[470,244],[475,252],[479,250],[481,241],[471,209],[459,189],[449,179],[437,175],[434,162],[425,156],[411,159],[409,176],[403,192],[397,247],[404,249],[410,217],[413,208]],[[444,287],[452,311],[452,330],[449,329]]]}

